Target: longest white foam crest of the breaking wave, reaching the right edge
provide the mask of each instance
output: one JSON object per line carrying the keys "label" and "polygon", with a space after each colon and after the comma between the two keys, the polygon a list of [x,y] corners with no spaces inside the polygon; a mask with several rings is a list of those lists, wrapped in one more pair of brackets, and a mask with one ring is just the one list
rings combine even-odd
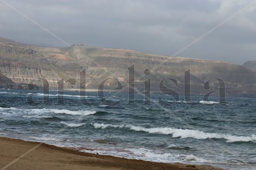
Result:
{"label": "longest white foam crest of the breaking wave, reaching the right edge", "polygon": [[144,128],[140,126],[133,126],[129,124],[122,125],[112,125],[112,124],[93,124],[95,128],[127,128],[133,131],[144,131],[147,133],[156,133],[163,135],[172,135],[172,137],[180,138],[194,138],[194,139],[226,139],[226,142],[254,142],[256,143],[256,135],[251,136],[236,136],[236,135],[226,135],[218,133],[204,133],[199,130],[191,129],[176,129],[170,127],[155,127],[155,128]]}

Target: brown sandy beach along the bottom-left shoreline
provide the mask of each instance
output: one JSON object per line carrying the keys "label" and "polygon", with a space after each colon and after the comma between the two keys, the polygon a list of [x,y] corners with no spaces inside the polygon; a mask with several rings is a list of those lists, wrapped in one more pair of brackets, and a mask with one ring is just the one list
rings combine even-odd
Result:
{"label": "brown sandy beach along the bottom-left shoreline", "polygon": [[[68,148],[0,137],[0,168],[6,170],[221,170],[208,165],[165,164],[84,153]],[[24,154],[27,153],[27,154]],[[21,156],[22,155],[22,156]],[[19,158],[22,157],[22,158]]]}

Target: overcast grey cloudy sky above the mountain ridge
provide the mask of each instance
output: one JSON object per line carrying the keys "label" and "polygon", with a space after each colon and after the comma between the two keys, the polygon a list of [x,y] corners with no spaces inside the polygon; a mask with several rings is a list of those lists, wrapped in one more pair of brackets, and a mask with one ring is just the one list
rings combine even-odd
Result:
{"label": "overcast grey cloudy sky above the mountain ridge", "polygon": [[[68,44],[173,56],[253,0],[4,0]],[[0,0],[0,36],[66,47]],[[256,60],[256,3],[177,56]]]}

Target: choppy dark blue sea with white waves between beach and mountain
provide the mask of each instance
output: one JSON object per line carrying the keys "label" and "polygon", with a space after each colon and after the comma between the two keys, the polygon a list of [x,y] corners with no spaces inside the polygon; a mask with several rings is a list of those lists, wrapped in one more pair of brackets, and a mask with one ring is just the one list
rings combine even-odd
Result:
{"label": "choppy dark blue sea with white waves between beach and mountain", "polygon": [[256,99],[221,105],[216,97],[186,103],[152,95],[150,104],[140,94],[129,103],[127,94],[65,91],[60,103],[57,91],[31,99],[32,92],[0,90],[0,136],[156,162],[256,167]]}

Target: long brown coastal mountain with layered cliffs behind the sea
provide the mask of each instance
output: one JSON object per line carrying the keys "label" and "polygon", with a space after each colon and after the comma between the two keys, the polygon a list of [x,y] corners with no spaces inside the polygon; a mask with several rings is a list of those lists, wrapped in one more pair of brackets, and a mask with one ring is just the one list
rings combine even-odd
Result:
{"label": "long brown coastal mountain with layered cliffs behind the sea", "polygon": [[[221,78],[226,87],[244,89],[256,84],[256,73],[253,70],[228,62],[201,60],[183,57],[159,56],[126,49],[99,48],[72,45],[67,48],[51,48],[21,44],[10,39],[0,38],[0,72],[14,83],[29,84],[32,81],[42,86],[38,79],[49,82],[51,88],[57,88],[57,82],[74,79],[75,83],[66,83],[69,89],[80,87],[80,71],[86,69],[87,89],[97,89],[99,83],[108,78],[118,79],[122,84],[128,82],[128,67],[135,65],[135,79],[145,75],[144,70],[150,69],[150,75],[135,81],[138,88],[149,77],[152,91],[157,90],[159,82],[165,78],[178,80],[178,87],[169,83],[170,87],[184,86],[184,72],[190,69],[192,87],[202,89],[203,84],[213,78]],[[158,66],[161,64],[160,66]],[[108,80],[106,88],[116,87],[116,81]],[[212,88],[218,82],[212,81]]]}

